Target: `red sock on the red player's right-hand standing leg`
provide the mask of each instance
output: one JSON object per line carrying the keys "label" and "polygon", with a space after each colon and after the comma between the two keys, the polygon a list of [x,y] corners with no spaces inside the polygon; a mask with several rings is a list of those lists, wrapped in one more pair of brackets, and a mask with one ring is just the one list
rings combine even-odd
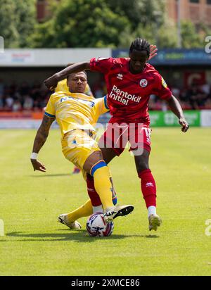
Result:
{"label": "red sock on the red player's right-hand standing leg", "polygon": [[141,191],[145,199],[146,208],[156,206],[156,184],[150,169],[139,172]]}

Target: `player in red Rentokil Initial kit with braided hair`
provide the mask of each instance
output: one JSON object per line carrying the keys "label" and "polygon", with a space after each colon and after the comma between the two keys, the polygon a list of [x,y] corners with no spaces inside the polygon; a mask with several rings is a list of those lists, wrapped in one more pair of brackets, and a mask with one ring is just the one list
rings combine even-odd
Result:
{"label": "player in red Rentokil Initial kit with braided hair", "polygon": [[[165,80],[153,65],[147,63],[149,56],[150,44],[145,39],[137,38],[130,46],[129,58],[91,58],[90,61],[75,63],[61,70],[45,80],[45,84],[53,89],[59,80],[81,70],[103,73],[111,118],[99,140],[99,147],[108,164],[115,156],[120,156],[129,141],[129,150],[134,153],[141,191],[148,209],[149,229],[157,230],[162,220],[156,213],[156,184],[148,162],[151,152],[148,102],[151,94],[167,102],[170,110],[177,115],[182,132],[188,130],[188,123],[179,101],[172,95]],[[91,176],[87,178],[87,185],[94,192]]]}

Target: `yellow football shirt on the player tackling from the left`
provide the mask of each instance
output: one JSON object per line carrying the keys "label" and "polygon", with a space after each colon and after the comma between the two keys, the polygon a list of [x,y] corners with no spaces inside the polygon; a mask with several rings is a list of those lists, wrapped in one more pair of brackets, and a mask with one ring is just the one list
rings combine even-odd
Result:
{"label": "yellow football shirt on the player tackling from the left", "polygon": [[95,131],[99,116],[108,111],[106,96],[95,99],[81,93],[56,92],[51,94],[44,114],[56,118],[63,137],[75,129]]}

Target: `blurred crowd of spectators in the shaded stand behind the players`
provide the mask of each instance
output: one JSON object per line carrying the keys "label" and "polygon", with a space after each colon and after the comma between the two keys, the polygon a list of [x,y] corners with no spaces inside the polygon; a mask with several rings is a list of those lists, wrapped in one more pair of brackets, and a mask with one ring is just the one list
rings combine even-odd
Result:
{"label": "blurred crowd of spectators in the shaded stand behind the players", "polygon": [[[179,89],[170,87],[174,96],[181,102],[182,108],[186,110],[211,109],[211,90],[209,84],[192,84],[188,89]],[[106,85],[104,82],[96,82],[91,86],[91,91],[96,98],[106,94]],[[34,82],[28,84],[23,82],[20,85],[12,82],[5,85],[0,80],[0,111],[39,111],[46,106],[49,92],[44,84]],[[151,110],[166,111],[166,103],[157,96],[152,95],[149,104]]]}

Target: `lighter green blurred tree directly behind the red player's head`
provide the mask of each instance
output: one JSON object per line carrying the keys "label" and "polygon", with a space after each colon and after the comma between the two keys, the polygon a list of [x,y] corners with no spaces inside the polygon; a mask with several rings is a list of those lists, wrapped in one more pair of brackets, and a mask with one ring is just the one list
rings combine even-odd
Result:
{"label": "lighter green blurred tree directly behind the red player's head", "polygon": [[130,26],[120,36],[120,47],[129,47],[136,37],[145,38],[159,48],[177,46],[177,30],[167,19],[165,1],[160,0],[108,0],[110,8],[125,15]]}

